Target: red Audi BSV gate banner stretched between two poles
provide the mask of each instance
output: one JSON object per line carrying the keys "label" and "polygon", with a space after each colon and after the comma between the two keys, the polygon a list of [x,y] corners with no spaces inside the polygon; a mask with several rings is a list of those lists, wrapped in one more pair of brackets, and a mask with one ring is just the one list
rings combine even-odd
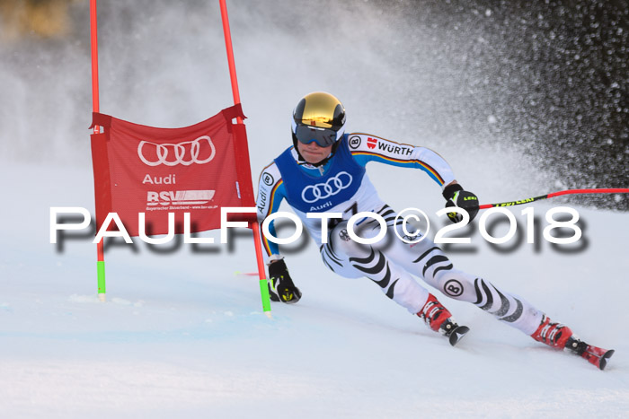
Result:
{"label": "red Audi BSV gate banner stretched between two poles", "polygon": [[220,227],[221,206],[254,206],[244,118],[240,105],[223,109],[199,124],[155,128],[93,113],[92,135],[96,222],[117,213],[130,236],[138,235],[138,214],[146,234],[168,233],[168,213],[175,233]]}

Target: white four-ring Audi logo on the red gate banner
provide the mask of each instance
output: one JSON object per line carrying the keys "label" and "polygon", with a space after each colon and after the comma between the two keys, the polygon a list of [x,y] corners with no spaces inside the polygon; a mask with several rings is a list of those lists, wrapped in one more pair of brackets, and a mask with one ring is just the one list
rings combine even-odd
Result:
{"label": "white four-ring Audi logo on the red gate banner", "polygon": [[216,153],[217,149],[208,135],[177,144],[155,144],[140,141],[140,144],[137,145],[137,155],[147,166],[205,164],[212,161]]}

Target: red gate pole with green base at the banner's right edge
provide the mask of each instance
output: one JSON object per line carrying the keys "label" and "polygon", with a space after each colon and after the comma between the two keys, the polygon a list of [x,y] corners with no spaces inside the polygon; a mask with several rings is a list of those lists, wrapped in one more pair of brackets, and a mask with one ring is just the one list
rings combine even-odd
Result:
{"label": "red gate pole with green base at the banner's right edge", "polygon": [[[227,15],[226,0],[220,0],[221,20],[223,21],[223,33],[225,35],[225,45],[227,49],[227,64],[229,65],[229,77],[232,82],[232,92],[234,93],[234,104],[240,103],[240,92],[238,92],[238,79],[235,72],[234,48],[232,47],[232,34],[229,31],[229,17]],[[244,125],[243,118],[236,118],[238,125]],[[264,314],[270,318],[270,297],[269,285],[264,268],[264,258],[262,257],[262,246],[260,243],[260,224],[257,220],[252,222],[253,244],[255,247],[255,257],[258,262],[258,276],[260,278],[260,295]]]}

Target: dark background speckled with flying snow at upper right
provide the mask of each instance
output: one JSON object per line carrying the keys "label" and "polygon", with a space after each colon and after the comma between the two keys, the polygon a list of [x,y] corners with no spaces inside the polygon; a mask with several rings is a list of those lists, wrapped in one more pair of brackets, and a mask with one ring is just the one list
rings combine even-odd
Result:
{"label": "dark background speckled with flying snow at upper right", "polygon": [[[567,188],[629,188],[629,2],[412,4],[409,20],[430,24],[439,15],[441,28],[462,32],[465,51],[449,53],[469,74],[465,113],[480,119],[492,109],[492,129],[509,133]],[[489,83],[478,83],[479,74]],[[626,194],[571,199],[629,210]]]}

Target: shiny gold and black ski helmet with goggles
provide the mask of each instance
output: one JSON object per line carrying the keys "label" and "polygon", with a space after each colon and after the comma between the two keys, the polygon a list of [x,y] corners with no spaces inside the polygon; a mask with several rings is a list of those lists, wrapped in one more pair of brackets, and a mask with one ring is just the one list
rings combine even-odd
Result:
{"label": "shiny gold and black ski helmet with goggles", "polygon": [[308,93],[293,110],[292,126],[296,149],[297,141],[303,144],[314,141],[322,147],[336,144],[345,132],[345,108],[330,93]]}

